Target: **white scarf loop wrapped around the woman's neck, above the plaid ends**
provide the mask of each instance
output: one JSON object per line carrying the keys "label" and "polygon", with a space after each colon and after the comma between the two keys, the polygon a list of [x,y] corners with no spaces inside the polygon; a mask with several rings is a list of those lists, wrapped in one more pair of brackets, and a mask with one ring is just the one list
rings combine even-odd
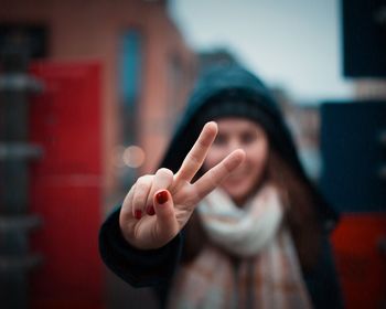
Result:
{"label": "white scarf loop wrapped around the woman's neck, above the plaid ends", "polygon": [[236,256],[256,255],[276,235],[283,216],[274,187],[265,187],[244,207],[237,207],[222,191],[215,190],[197,209],[210,238]]}

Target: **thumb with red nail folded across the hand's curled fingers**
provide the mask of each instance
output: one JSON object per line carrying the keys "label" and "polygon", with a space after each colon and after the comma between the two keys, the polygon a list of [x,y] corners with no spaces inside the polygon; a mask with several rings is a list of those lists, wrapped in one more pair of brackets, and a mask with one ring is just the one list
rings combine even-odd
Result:
{"label": "thumb with red nail folded across the hand's curled fingers", "polygon": [[179,233],[173,198],[168,190],[157,191],[153,196],[153,205],[157,215],[158,235],[164,242],[169,242]]}

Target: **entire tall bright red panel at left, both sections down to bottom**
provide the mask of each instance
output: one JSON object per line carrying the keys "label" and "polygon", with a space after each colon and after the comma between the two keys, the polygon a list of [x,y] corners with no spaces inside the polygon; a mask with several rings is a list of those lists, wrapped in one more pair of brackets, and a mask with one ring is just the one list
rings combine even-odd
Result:
{"label": "entire tall bright red panel at left, both sections down to bottom", "polygon": [[100,66],[44,62],[32,72],[45,84],[30,105],[31,140],[44,150],[31,168],[31,211],[44,221],[32,235],[44,256],[32,308],[103,308]]}

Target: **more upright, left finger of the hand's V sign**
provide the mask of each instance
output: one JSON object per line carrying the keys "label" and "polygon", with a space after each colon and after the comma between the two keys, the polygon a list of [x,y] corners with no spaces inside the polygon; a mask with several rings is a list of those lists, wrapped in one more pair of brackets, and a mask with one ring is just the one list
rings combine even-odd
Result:
{"label": "more upright, left finger of the hand's V sign", "polygon": [[218,129],[216,122],[210,121],[205,124],[197,140],[183,160],[180,170],[176,172],[176,181],[192,181],[193,177],[202,167],[207,151],[210,150],[210,147],[212,146],[217,135],[217,130]]}

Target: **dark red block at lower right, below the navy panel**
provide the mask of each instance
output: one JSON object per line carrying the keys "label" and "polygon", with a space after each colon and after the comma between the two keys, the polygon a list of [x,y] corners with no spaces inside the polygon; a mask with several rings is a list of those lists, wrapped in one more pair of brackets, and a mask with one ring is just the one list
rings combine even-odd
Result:
{"label": "dark red block at lower right, below the navy panel", "polygon": [[[346,308],[386,305],[386,214],[346,214],[333,234]],[[384,244],[385,245],[385,244]]]}

